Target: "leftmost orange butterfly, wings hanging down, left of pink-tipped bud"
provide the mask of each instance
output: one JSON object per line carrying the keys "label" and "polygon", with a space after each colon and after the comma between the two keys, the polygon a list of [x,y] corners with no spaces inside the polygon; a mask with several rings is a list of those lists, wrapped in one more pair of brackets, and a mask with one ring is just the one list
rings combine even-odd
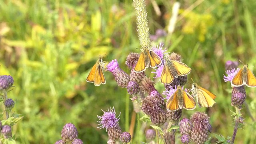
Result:
{"label": "leftmost orange butterfly, wings hanging down, left of pink-tipped bud", "polygon": [[92,67],[88,77],[86,78],[87,82],[94,82],[95,86],[100,86],[100,84],[106,84],[105,76],[103,74],[105,63],[102,58],[99,58]]}

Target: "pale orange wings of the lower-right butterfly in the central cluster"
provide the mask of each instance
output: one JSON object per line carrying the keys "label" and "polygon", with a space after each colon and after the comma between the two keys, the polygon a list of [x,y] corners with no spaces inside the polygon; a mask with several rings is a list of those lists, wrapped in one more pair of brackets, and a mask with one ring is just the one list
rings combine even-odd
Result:
{"label": "pale orange wings of the lower-right butterfly in the central cluster", "polygon": [[212,107],[215,103],[216,96],[208,90],[200,87],[198,88],[198,103],[203,107]]}

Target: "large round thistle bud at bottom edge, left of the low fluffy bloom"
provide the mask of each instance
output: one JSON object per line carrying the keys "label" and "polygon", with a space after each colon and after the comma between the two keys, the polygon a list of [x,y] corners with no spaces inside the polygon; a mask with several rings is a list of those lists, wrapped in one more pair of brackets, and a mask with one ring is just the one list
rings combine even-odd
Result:
{"label": "large round thistle bud at bottom edge, left of the low fluffy bloom", "polygon": [[64,142],[72,142],[78,137],[76,126],[72,123],[65,124],[61,131],[61,137]]}

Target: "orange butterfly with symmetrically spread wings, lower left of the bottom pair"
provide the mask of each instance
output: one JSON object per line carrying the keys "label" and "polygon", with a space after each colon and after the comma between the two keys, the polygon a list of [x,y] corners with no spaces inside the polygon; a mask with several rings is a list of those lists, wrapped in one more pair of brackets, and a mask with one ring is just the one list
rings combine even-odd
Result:
{"label": "orange butterfly with symmetrically spread wings, lower left of the bottom pair", "polygon": [[177,90],[166,102],[166,108],[170,111],[185,108],[186,110],[194,110],[196,108],[196,102],[194,98],[180,86],[177,86]]}

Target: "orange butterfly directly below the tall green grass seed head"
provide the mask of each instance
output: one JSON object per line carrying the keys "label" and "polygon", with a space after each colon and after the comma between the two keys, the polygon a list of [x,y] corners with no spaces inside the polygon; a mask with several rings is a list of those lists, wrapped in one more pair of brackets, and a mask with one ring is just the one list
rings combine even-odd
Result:
{"label": "orange butterfly directly below the tall green grass seed head", "polygon": [[148,48],[144,48],[143,52],[140,53],[138,62],[134,67],[134,71],[143,72],[149,66],[155,68],[161,63],[161,58],[155,52],[148,50]]}

